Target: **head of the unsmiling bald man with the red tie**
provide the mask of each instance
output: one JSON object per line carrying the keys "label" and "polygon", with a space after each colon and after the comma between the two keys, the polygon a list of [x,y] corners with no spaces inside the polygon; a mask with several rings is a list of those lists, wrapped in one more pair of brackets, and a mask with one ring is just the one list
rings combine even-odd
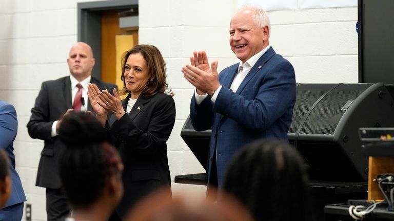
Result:
{"label": "head of the unsmiling bald man with the red tie", "polygon": [[67,64],[71,75],[79,82],[90,76],[94,63],[93,52],[88,44],[78,42],[71,47]]}

